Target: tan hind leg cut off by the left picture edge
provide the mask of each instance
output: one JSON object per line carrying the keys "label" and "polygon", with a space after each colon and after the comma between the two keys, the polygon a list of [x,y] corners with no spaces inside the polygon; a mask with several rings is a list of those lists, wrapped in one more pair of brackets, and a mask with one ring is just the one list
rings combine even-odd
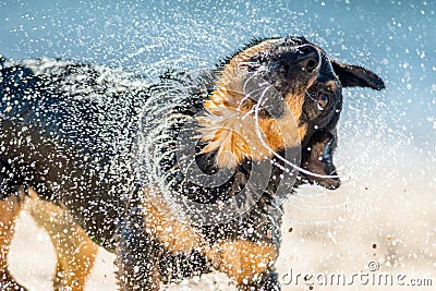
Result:
{"label": "tan hind leg cut off by the left picture edge", "polygon": [[8,270],[9,250],[21,208],[17,196],[0,201],[0,290],[21,290]]}

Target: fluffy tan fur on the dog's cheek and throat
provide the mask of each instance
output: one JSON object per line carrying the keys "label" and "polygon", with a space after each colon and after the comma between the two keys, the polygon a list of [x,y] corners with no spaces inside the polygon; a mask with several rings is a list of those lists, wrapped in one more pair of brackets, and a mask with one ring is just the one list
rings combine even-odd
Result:
{"label": "fluffy tan fur on the dog's cheek and throat", "polygon": [[304,90],[286,96],[288,108],[282,118],[256,120],[255,113],[250,112],[254,102],[247,104],[243,94],[245,80],[245,71],[227,66],[216,83],[216,90],[204,104],[208,114],[197,118],[202,140],[208,142],[203,153],[217,150],[216,161],[221,168],[234,168],[245,158],[270,158],[272,151],[299,146],[305,134],[305,125],[296,125]]}

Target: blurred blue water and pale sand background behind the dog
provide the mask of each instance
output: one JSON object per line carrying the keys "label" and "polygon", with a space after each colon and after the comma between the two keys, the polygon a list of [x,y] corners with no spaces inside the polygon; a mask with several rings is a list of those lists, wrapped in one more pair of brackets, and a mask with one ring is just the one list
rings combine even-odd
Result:
{"label": "blurred blue water and pale sand background behind the dog", "polygon": [[[435,1],[0,0],[0,53],[121,66],[152,81],[168,68],[208,68],[253,37],[303,35],[343,62],[379,74],[386,90],[344,89],[335,155],[337,191],[296,190],[286,204],[278,268],[283,290],[397,290],[310,286],[289,275],[370,271],[433,278],[436,286]],[[49,290],[55,255],[23,214],[11,268]],[[116,290],[100,252],[87,290]],[[220,275],[171,290],[229,290]],[[230,283],[231,284],[231,283]],[[403,286],[401,290],[433,290]]]}

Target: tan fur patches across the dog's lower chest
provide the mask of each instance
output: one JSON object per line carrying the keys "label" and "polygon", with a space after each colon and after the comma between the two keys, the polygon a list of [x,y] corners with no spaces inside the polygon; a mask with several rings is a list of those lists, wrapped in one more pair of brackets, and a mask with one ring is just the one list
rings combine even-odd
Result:
{"label": "tan fur patches across the dog's lower chest", "polygon": [[239,284],[253,279],[277,259],[277,247],[271,243],[226,240],[208,245],[198,230],[171,215],[162,198],[144,196],[148,196],[143,201],[144,223],[167,251],[177,254],[196,250]]}

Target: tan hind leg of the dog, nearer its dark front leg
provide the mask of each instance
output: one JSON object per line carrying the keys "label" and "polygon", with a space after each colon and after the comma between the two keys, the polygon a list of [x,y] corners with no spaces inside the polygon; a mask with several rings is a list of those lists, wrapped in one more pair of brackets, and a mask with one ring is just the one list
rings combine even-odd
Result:
{"label": "tan hind leg of the dog, nearer its dark front leg", "polygon": [[28,194],[25,210],[48,232],[55,246],[58,259],[53,278],[55,290],[84,290],[95,264],[97,245],[74,221],[68,209],[40,199],[32,189]]}

